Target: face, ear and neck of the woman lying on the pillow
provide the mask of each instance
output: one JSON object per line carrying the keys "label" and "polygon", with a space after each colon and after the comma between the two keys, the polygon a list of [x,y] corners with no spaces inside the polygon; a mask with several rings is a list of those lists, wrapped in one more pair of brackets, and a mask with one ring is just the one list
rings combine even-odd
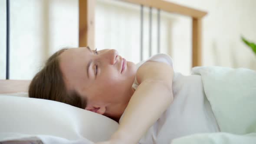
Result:
{"label": "face, ear and neck of the woman lying on the pillow", "polygon": [[85,109],[102,115],[121,116],[134,92],[135,64],[114,49],[67,49],[60,55],[60,69],[68,90],[87,98]]}

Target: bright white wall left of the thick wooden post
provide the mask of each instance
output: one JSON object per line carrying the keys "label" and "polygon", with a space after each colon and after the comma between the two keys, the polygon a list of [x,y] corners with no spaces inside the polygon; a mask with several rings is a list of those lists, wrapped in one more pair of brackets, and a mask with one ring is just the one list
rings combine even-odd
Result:
{"label": "bright white wall left of the thick wooden post", "polygon": [[[0,79],[5,79],[6,0],[0,0],[0,17]],[[78,46],[78,0],[10,0],[10,79],[32,79],[65,46]]]}

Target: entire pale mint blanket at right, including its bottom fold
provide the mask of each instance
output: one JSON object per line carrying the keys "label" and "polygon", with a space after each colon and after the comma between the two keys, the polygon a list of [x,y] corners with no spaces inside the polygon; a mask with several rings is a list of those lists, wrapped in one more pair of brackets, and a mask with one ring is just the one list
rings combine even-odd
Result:
{"label": "entire pale mint blanket at right, including its bottom fold", "polygon": [[194,134],[172,144],[256,144],[256,72],[249,69],[195,67],[201,75],[221,133]]}

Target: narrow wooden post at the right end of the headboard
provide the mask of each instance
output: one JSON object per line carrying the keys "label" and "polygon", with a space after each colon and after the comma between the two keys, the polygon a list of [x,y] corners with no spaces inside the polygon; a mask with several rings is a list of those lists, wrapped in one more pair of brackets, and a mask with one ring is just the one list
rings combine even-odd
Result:
{"label": "narrow wooden post at the right end of the headboard", "polygon": [[202,65],[202,20],[193,18],[192,67]]}

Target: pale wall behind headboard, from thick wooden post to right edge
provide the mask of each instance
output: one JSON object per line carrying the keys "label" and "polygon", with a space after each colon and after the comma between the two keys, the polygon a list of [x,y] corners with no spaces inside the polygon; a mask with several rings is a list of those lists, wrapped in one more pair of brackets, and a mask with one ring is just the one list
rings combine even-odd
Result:
{"label": "pale wall behind headboard, from thick wooden post to right edge", "polygon": [[[140,6],[97,0],[96,47],[115,48],[129,60],[138,62],[140,49]],[[203,18],[203,65],[245,67],[256,70],[256,56],[240,39],[256,42],[255,0],[169,0],[207,11]],[[119,8],[117,8],[119,6]],[[144,7],[144,48],[148,48],[148,8]],[[153,10],[156,20],[156,10]],[[102,23],[97,25],[97,23]],[[103,24],[104,23],[104,24]],[[104,36],[104,38],[103,38]],[[189,74],[191,68],[192,20],[161,12],[161,52],[174,59],[174,70]],[[119,39],[119,40],[116,40]],[[152,46],[156,49],[156,21]],[[135,53],[135,55],[133,54]],[[148,55],[145,52],[144,58]]]}

